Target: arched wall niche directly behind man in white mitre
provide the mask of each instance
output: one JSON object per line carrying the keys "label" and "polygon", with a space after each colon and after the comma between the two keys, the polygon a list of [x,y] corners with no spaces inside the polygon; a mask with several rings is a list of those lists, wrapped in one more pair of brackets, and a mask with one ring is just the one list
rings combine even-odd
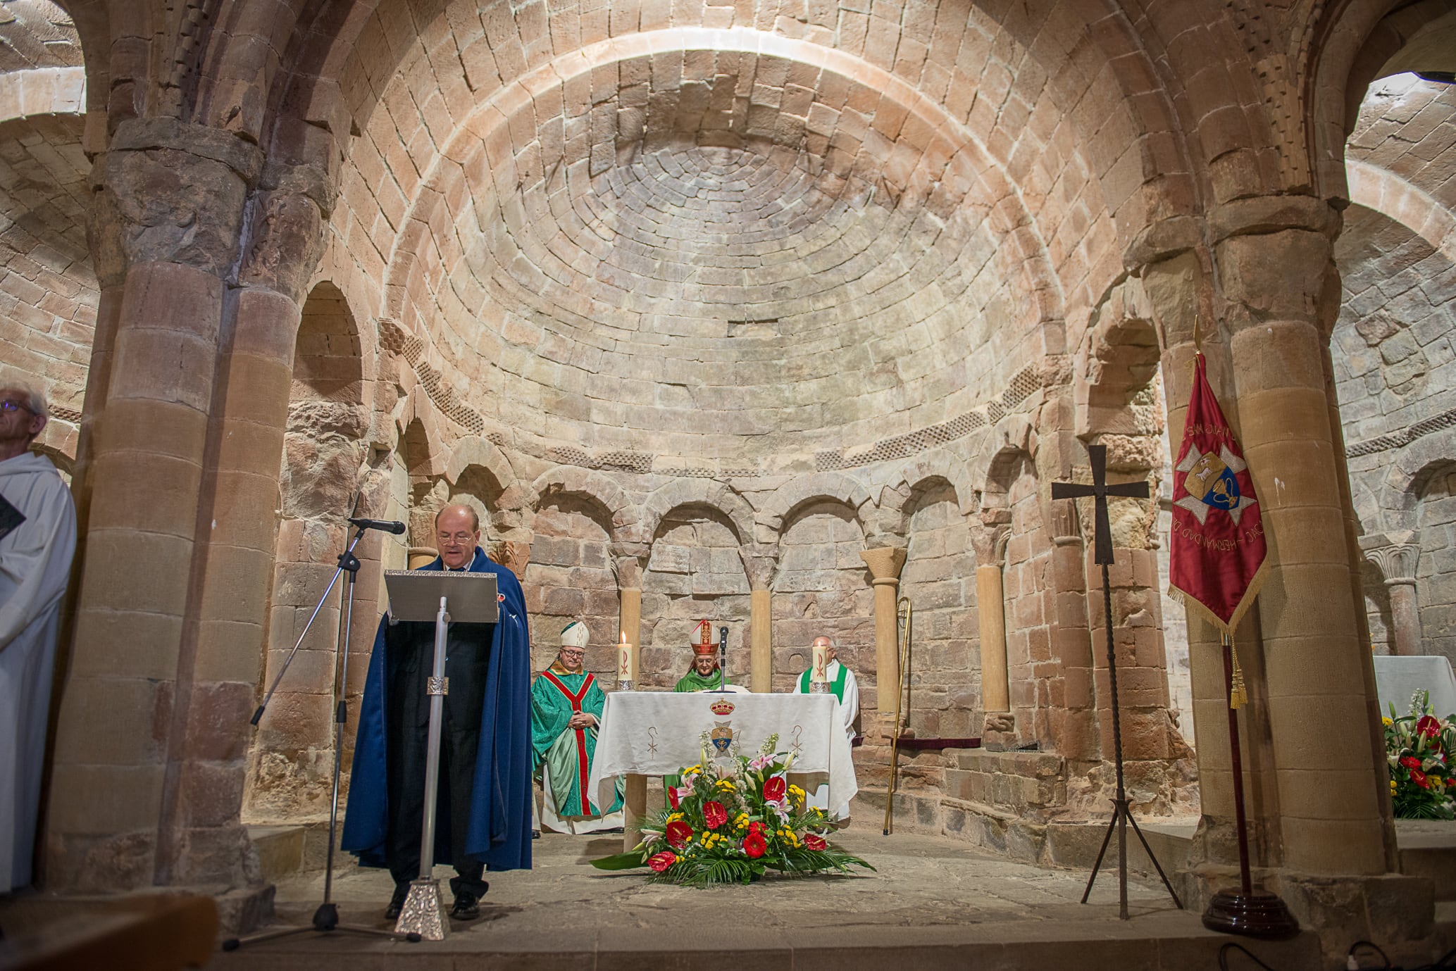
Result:
{"label": "arched wall niche directly behind man in white mitre", "polygon": [[531,625],[531,670],[550,665],[561,630],[582,620],[591,630],[587,670],[603,687],[616,684],[617,581],[607,546],[610,515],[590,498],[561,494],[536,512],[526,566],[526,613]]}

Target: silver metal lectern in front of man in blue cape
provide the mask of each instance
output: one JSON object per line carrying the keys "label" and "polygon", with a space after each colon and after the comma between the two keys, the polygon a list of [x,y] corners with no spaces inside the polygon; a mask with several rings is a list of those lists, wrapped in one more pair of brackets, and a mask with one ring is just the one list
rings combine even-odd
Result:
{"label": "silver metal lectern in front of man in blue cape", "polygon": [[395,930],[418,933],[425,940],[443,940],[450,933],[444,892],[434,879],[435,799],[440,795],[440,722],[450,691],[446,677],[446,629],[450,623],[495,623],[501,616],[495,574],[466,574],[443,569],[386,569],[390,622],[434,622],[435,662],[430,693],[430,741],[425,750],[425,821],[419,837],[419,878],[411,881],[409,897],[399,911]]}

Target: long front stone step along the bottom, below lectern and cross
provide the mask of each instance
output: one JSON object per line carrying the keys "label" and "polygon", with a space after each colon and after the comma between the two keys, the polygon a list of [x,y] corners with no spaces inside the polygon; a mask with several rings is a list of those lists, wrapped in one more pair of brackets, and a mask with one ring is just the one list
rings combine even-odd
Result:
{"label": "long front stone step along the bottom, below lectern and cross", "polygon": [[[696,891],[700,892],[700,891]],[[812,895],[811,885],[804,892]],[[480,967],[515,968],[674,968],[676,971],[884,971],[887,967],[996,968],[996,971],[1187,971],[1219,967],[1229,936],[1206,930],[1195,914],[1140,914],[1131,922],[1006,922],[938,927],[847,924],[843,930],[764,932],[735,924],[692,933],[660,927],[581,927],[565,919],[559,933],[521,938],[483,924],[457,926],[438,942],[389,942],[352,936],[304,935],[218,954],[210,968],[232,971],[456,971]],[[1319,971],[1319,938],[1302,932],[1293,940],[1236,940],[1267,967]],[[1236,955],[1235,961],[1242,958]],[[1242,965],[1239,965],[1242,967]],[[1254,967],[1252,964],[1249,967]]]}

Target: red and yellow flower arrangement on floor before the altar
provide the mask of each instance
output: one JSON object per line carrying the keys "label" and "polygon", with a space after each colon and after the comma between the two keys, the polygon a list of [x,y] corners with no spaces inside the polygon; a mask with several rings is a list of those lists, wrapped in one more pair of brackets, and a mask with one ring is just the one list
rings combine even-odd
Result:
{"label": "red and yellow flower arrangement on floor before the altar", "polygon": [[[607,871],[646,866],[651,879],[684,887],[751,884],[767,871],[804,876],[824,871],[875,869],[826,839],[834,818],[805,806],[789,785],[792,754],[775,751],[770,735],[753,758],[734,753],[724,767],[706,756],[668,786],[668,805],[642,821],[642,841],[593,865]],[[706,747],[705,747],[706,751]]]}

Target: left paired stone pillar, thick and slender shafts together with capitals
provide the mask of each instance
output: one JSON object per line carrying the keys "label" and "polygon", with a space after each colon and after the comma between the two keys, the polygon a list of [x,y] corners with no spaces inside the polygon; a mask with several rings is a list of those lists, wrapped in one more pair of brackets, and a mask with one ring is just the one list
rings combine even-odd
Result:
{"label": "left paired stone pillar, thick and slender shafts together with capitals", "polygon": [[252,197],[240,259],[259,167],[253,144],[172,119],[124,122],[98,166],[93,258],[121,298],[47,818],[58,889],[259,881],[239,823],[248,719],[322,243],[312,199]]}

